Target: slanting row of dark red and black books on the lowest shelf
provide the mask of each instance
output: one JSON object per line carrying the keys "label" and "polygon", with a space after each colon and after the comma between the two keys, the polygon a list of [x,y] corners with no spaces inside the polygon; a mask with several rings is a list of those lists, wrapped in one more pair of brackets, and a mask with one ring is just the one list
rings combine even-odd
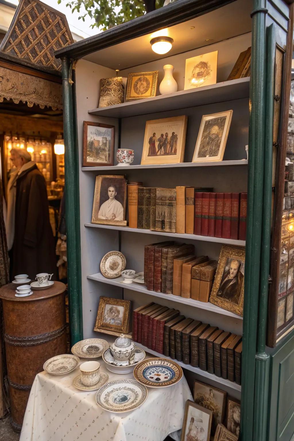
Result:
{"label": "slanting row of dark red and black books on the lowest shelf", "polygon": [[158,303],[134,310],[132,335],[135,342],[166,357],[241,384],[242,336]]}

